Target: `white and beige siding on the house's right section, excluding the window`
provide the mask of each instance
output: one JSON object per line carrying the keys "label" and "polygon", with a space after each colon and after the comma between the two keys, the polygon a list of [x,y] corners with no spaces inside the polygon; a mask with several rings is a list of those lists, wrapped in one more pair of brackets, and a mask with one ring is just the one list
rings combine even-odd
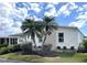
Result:
{"label": "white and beige siding on the house's right section, excluding the window", "polygon": [[[64,42],[58,42],[58,33],[64,33]],[[83,41],[83,34],[76,28],[58,28],[50,36],[47,36],[46,43],[53,44],[52,50],[56,50],[57,46],[62,48],[66,46],[70,48],[74,46],[78,50],[79,43]]]}

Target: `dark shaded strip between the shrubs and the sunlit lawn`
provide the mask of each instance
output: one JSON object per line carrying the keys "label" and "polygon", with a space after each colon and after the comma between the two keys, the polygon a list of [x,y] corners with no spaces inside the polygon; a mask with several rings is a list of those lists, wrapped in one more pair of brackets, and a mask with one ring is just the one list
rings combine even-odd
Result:
{"label": "dark shaded strip between the shrubs and the sunlit lawn", "polygon": [[29,54],[19,53],[21,55],[40,55],[42,57],[73,57],[76,53],[68,53],[68,52],[33,52]]}

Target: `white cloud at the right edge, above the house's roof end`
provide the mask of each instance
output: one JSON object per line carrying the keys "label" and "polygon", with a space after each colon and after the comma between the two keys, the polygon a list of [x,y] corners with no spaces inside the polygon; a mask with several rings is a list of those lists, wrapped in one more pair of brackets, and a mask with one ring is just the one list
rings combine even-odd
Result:
{"label": "white cloud at the right edge, above the house's roof end", "polygon": [[83,11],[76,17],[76,22],[70,22],[69,26],[83,28],[87,24],[87,11]]}

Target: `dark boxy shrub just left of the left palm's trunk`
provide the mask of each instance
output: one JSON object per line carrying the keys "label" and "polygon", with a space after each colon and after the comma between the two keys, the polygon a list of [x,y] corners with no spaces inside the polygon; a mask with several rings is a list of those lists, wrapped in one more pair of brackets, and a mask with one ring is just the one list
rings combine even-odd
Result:
{"label": "dark boxy shrub just left of the left palm's trunk", "polygon": [[32,43],[25,43],[21,46],[23,54],[32,53]]}

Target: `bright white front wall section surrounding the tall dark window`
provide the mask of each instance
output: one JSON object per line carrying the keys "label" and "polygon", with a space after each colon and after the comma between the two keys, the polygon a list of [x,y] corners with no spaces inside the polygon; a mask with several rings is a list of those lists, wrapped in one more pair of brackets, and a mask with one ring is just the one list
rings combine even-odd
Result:
{"label": "bright white front wall section surrounding the tall dark window", "polygon": [[[77,45],[77,31],[75,29],[65,29],[65,28],[59,28],[58,31],[56,31],[56,46],[61,46],[63,48],[63,46],[66,46],[67,48],[70,48],[70,46],[75,46]],[[58,33],[63,32],[64,33],[64,42],[59,43],[58,42]]]}

